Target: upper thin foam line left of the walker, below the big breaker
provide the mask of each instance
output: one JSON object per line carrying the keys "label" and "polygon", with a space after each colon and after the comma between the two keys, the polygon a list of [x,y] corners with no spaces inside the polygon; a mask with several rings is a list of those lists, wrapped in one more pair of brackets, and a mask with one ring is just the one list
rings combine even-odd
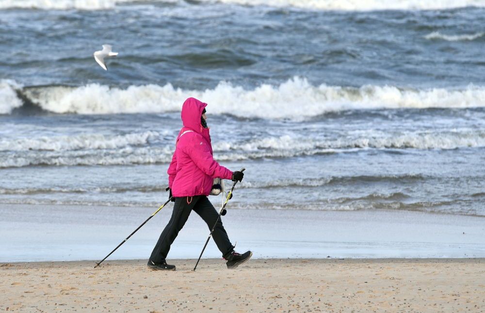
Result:
{"label": "upper thin foam line left of the walker, below the big breaker", "polygon": [[153,131],[126,135],[80,134],[76,136],[1,139],[0,151],[63,151],[81,149],[119,149],[131,145],[145,145],[160,134]]}

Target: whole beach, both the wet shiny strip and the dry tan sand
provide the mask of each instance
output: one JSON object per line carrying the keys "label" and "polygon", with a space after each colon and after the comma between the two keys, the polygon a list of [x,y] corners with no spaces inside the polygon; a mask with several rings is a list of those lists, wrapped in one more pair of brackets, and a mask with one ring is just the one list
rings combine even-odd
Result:
{"label": "whole beach, both the wet shiny strip and the dry tan sand", "polygon": [[[226,269],[224,261],[215,258],[219,253],[211,241],[193,272],[196,260],[184,255],[197,255],[208,232],[203,221],[194,217],[170,251],[168,261],[177,271],[152,271],[144,257],[168,218],[167,210],[101,267],[95,269],[95,261],[77,261],[102,259],[149,211],[0,207],[4,218],[0,222],[4,230],[0,311],[485,310],[481,217],[405,211],[233,210],[225,225],[240,241],[238,250],[253,250],[248,263]],[[119,260],[124,258],[137,260]]]}

